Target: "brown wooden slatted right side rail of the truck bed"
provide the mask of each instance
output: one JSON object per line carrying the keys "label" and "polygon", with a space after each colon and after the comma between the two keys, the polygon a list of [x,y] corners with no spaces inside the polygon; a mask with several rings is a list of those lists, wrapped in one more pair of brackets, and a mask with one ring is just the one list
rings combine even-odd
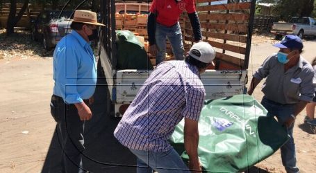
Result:
{"label": "brown wooden slatted right side rail of the truck bed", "polygon": [[[217,49],[215,66],[219,69],[247,68],[244,62],[249,42],[249,26],[251,25],[251,1],[212,3],[212,5],[210,3],[216,2],[215,0],[197,0],[196,2],[198,3],[196,9],[201,23],[203,41]],[[183,15],[183,17],[186,21],[185,43],[192,44],[194,36],[189,24],[190,20],[188,15]]]}

